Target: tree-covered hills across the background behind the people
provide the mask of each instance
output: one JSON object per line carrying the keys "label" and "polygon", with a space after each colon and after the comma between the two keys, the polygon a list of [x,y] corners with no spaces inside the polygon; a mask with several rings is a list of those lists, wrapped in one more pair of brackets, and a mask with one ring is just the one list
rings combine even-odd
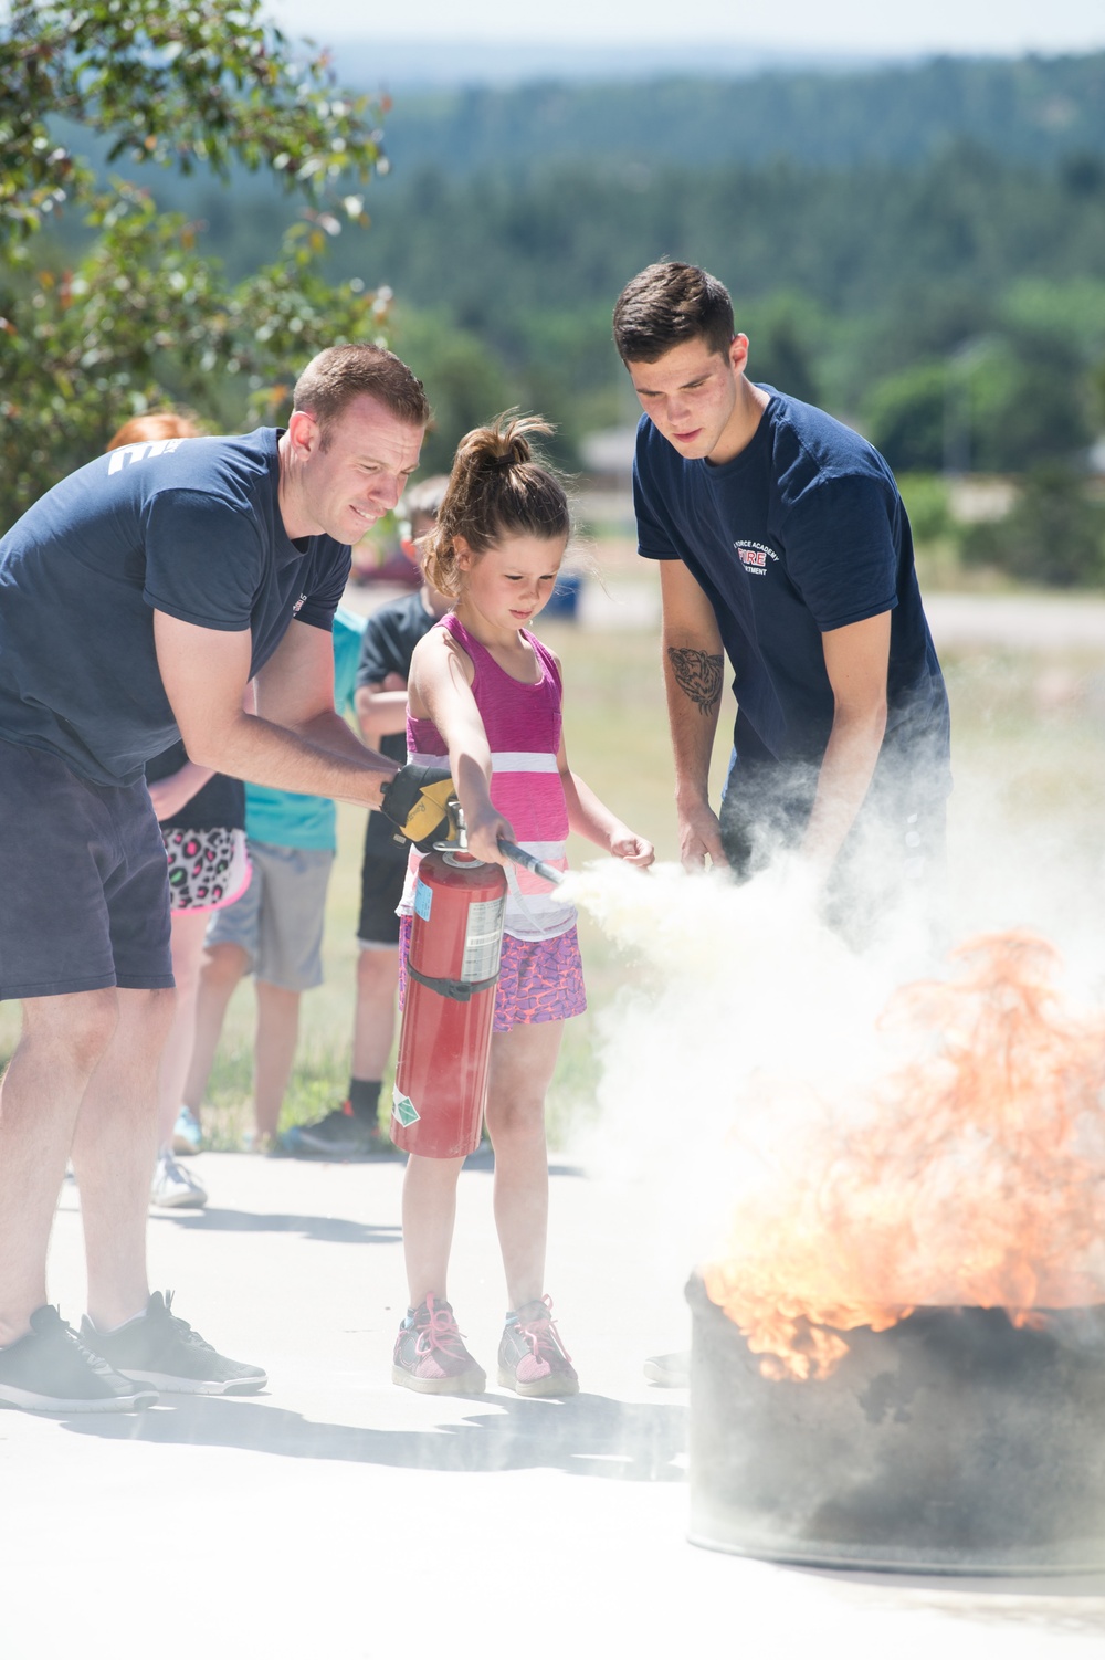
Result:
{"label": "tree-covered hills across the background behind the people", "polygon": [[[385,146],[330,267],[395,290],[433,466],[513,402],[569,465],[629,420],[611,305],[664,256],[730,286],[757,378],[901,468],[1019,471],[1105,428],[1105,53],[423,95]],[[144,183],[237,274],[290,212],[249,179]]]}

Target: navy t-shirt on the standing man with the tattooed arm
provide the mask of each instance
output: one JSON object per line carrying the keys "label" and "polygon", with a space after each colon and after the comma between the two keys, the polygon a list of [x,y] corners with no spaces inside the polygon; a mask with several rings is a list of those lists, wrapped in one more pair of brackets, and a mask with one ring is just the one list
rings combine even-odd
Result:
{"label": "navy t-shirt on the standing man with the tattooed arm", "polygon": [[738,760],[820,765],[835,707],[821,634],[891,611],[879,772],[916,764],[946,793],[947,694],[894,476],[849,427],[763,390],[752,442],[720,466],[685,460],[642,417],[639,551],[682,559],[713,606],[733,667]]}

